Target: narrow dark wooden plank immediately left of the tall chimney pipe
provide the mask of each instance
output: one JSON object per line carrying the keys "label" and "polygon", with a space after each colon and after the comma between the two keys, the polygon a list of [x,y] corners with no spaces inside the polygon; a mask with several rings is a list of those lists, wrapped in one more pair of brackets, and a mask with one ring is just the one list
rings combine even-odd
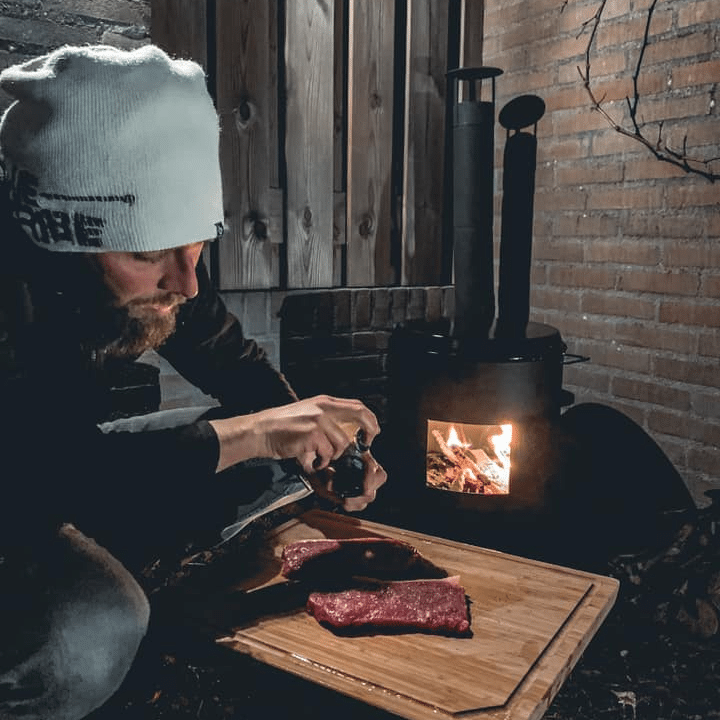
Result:
{"label": "narrow dark wooden plank immediately left of the tall chimney pipe", "polygon": [[402,206],[403,285],[442,278],[447,0],[407,10]]}

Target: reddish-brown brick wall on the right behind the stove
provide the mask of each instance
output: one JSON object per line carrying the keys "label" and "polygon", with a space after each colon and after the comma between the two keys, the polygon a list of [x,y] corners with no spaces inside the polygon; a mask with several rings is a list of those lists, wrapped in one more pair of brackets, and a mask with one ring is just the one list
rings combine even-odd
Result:
{"label": "reddish-brown brick wall on the right behind the stove", "polygon": [[[610,0],[591,49],[591,86],[628,128],[625,97],[649,5]],[[598,7],[486,1],[484,63],[504,70],[498,109],[524,93],[547,105],[538,124],[533,319],[592,358],[565,371],[577,400],[640,423],[705,504],[704,490],[720,487],[720,182],[656,160],[592,111],[577,67],[589,39],[583,23]],[[688,155],[720,156],[719,83],[720,3],[659,2],[639,76],[647,137],[657,140],[663,120],[672,147],[687,138]],[[499,152],[504,141],[501,130]],[[720,173],[717,162],[707,167]]]}

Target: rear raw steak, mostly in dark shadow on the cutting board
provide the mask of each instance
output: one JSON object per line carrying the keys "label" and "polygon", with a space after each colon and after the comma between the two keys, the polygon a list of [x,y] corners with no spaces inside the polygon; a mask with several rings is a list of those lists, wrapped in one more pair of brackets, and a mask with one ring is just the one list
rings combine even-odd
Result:
{"label": "rear raw steak, mostly in dark shadow on the cutting board", "polygon": [[324,584],[352,576],[379,580],[447,577],[445,570],[409,543],[384,537],[299,540],[285,546],[282,561],[284,577]]}

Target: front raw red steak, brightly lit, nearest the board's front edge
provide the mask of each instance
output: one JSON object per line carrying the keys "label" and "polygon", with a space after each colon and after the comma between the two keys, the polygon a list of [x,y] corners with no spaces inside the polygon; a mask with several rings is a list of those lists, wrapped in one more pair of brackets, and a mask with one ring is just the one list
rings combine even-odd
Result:
{"label": "front raw red steak, brightly lit, nearest the board's front edge", "polygon": [[307,611],[335,630],[470,634],[465,588],[455,576],[444,580],[389,582],[375,589],[313,592]]}

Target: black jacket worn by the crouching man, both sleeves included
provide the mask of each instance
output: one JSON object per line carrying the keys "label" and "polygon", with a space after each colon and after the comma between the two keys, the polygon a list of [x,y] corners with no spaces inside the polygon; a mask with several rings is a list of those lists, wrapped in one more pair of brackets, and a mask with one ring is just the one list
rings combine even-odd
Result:
{"label": "black jacket worn by the crouching man, both sleeves included", "polygon": [[[186,521],[193,498],[215,482],[212,428],[199,421],[103,434],[118,361],[86,349],[75,332],[73,303],[54,282],[72,259],[20,247],[0,269],[0,555],[42,541],[62,522],[101,528],[122,518],[132,533],[153,516]],[[159,354],[232,414],[295,399],[244,337],[202,262],[197,274],[199,294],[182,306]]]}

